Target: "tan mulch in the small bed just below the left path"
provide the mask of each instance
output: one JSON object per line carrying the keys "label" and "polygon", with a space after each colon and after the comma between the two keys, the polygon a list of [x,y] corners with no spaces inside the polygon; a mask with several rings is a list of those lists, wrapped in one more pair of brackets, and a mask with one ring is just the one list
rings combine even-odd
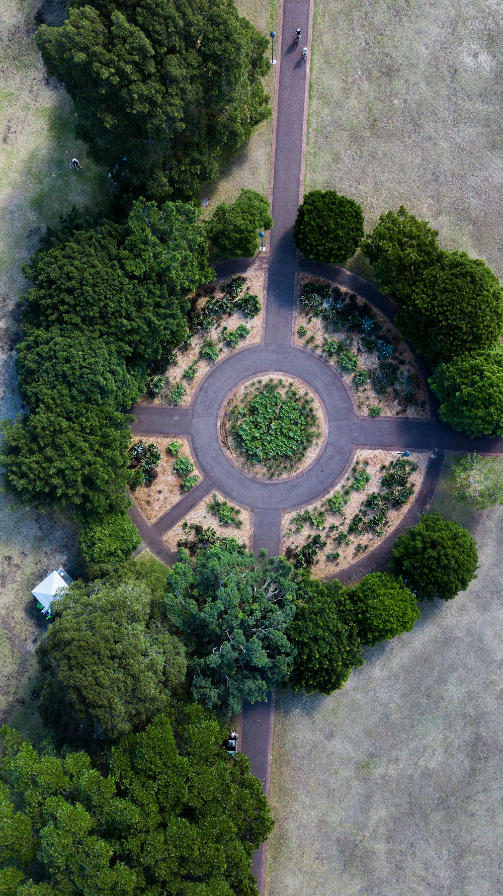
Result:
{"label": "tan mulch in the small bed just below the left path", "polygon": [[143,513],[145,520],[155,522],[162,513],[166,513],[184,495],[181,487],[182,477],[173,472],[173,463],[176,461],[176,458],[167,452],[170,442],[180,442],[181,448],[178,452],[178,457],[188,457],[194,463],[194,472],[190,475],[197,474],[200,479],[204,477],[201,476],[200,471],[195,466],[192,448],[188,439],[175,435],[160,438],[160,436],[156,435],[152,439],[145,436],[142,441],[151,441],[158,446],[160,449],[160,464],[157,467],[157,477],[153,480],[152,486],[135,488],[134,492],[132,492],[132,497]]}

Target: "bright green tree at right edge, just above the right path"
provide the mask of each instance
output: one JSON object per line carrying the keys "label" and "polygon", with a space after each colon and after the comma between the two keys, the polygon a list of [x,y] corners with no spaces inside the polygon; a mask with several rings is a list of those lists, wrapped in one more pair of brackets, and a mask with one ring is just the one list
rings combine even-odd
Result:
{"label": "bright green tree at right edge, just above the right path", "polygon": [[466,352],[440,364],[429,384],[441,401],[439,416],[468,435],[503,435],[503,349]]}

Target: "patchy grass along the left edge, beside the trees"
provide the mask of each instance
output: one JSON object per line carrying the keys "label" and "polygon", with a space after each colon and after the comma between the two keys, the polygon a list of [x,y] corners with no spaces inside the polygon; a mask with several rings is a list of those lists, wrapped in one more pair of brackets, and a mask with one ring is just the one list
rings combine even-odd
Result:
{"label": "patchy grass along the left edge, beside the trees", "polygon": [[[48,81],[33,43],[38,3],[3,0],[0,13],[0,418],[20,409],[13,366],[18,337],[21,266],[46,224],[56,224],[72,205],[105,199],[107,173],[95,168],[74,136],[73,111],[62,90]],[[45,4],[48,16],[61,3]],[[48,18],[48,21],[50,19]],[[76,156],[82,172],[70,171]],[[0,494],[0,720],[29,737],[39,735],[31,702],[35,644],[43,625],[30,590],[63,564],[78,568],[74,525],[62,514],[8,509]]]}

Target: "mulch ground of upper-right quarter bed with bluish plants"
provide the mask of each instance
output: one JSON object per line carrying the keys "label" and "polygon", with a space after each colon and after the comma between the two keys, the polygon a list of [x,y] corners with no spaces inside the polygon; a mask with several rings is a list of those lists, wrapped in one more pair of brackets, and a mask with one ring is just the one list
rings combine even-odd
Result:
{"label": "mulch ground of upper-right quarter bed with bluish plants", "polygon": [[[321,277],[299,274],[298,295],[304,284],[307,282],[327,283],[329,281],[324,280]],[[334,283],[332,285],[334,286]],[[377,311],[377,308],[372,306],[367,299],[362,298],[357,293],[351,293],[350,289],[339,287],[338,284],[337,287],[343,293],[343,298],[346,301],[350,296],[354,297],[355,306],[361,312],[362,316],[365,316],[363,310],[364,306],[370,306],[372,316],[376,318],[379,340],[384,340],[395,347],[395,354],[390,360],[395,362],[399,367],[400,381],[395,383],[395,386],[390,386],[386,394],[377,394],[372,385],[371,377],[373,374],[378,373],[379,359],[377,351],[369,351],[363,345],[363,333],[335,330],[330,324],[325,323],[321,317],[306,313],[299,306],[299,301],[295,325],[295,340],[297,345],[301,345],[304,348],[314,351],[317,355],[323,357],[327,364],[333,364],[335,366],[337,373],[342,376],[343,380],[347,383],[351,393],[351,400],[355,410],[360,416],[367,417],[369,416],[370,408],[378,408],[379,413],[383,417],[429,417],[429,401],[426,384],[424,383],[421,371],[412,355],[411,349],[409,349],[403,341],[400,333],[392,323],[389,323],[384,314]],[[299,335],[299,328],[304,328],[305,332],[301,329]],[[369,383],[357,387],[353,382],[353,373],[345,373],[338,366],[337,359],[333,358],[331,360],[323,351],[325,339],[343,340],[345,343],[344,348],[357,355],[359,369],[368,371],[370,375]],[[410,403],[406,403],[403,400],[403,395],[406,389],[411,390],[410,399],[407,400],[410,401]]]}

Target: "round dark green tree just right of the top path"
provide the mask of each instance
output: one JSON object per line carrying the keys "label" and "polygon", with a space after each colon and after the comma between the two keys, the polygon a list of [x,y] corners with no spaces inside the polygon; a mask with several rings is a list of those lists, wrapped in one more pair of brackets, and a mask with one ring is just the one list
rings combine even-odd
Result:
{"label": "round dark green tree just right of the top path", "polygon": [[299,205],[293,227],[295,245],[315,262],[343,264],[363,239],[363,212],[354,199],[335,190],[311,190]]}

